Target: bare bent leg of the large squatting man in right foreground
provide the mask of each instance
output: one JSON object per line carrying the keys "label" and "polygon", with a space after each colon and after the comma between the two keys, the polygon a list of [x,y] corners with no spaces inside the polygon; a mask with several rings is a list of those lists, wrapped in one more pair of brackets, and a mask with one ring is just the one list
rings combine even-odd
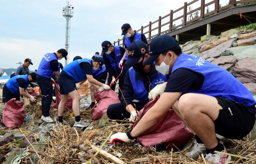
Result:
{"label": "bare bent leg of the large squatting man in right foreground", "polygon": [[206,148],[215,148],[218,144],[214,120],[222,107],[215,97],[187,93],[179,98],[178,110],[194,133],[202,140]]}

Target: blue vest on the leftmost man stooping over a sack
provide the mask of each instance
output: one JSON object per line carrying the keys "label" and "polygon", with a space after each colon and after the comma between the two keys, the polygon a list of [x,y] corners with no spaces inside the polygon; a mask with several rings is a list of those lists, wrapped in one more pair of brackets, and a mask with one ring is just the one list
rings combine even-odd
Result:
{"label": "blue vest on the leftmost man stooping over a sack", "polygon": [[28,87],[28,75],[18,75],[18,76],[12,77],[10,78],[10,80],[6,82],[6,86],[9,89],[9,91],[11,91],[11,93],[13,94],[20,92],[19,83],[17,83],[17,78],[23,78],[26,81],[24,89]]}

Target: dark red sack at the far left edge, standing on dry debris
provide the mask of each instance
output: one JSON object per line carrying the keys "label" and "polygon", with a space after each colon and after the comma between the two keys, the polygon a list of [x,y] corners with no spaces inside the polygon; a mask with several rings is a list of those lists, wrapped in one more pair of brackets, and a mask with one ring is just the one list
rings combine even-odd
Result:
{"label": "dark red sack at the far left edge, standing on dry debris", "polygon": [[24,102],[16,102],[16,98],[9,100],[6,103],[3,112],[3,123],[7,128],[20,127],[26,117],[23,109]]}

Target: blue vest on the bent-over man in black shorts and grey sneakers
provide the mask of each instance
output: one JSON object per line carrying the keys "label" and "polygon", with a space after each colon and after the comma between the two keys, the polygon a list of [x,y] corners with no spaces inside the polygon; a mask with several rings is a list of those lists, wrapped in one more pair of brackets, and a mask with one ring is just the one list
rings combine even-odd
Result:
{"label": "blue vest on the bent-over man in black shorts and grey sneakers", "polygon": [[88,62],[92,66],[92,59],[83,58],[67,64],[67,66],[65,66],[63,69],[69,76],[73,78],[76,83],[87,78],[84,70],[79,66],[79,64],[82,62]]}

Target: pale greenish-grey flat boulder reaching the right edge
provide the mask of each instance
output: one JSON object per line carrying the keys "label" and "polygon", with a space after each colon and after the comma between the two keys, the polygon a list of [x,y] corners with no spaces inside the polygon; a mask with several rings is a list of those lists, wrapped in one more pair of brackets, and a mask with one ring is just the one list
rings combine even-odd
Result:
{"label": "pale greenish-grey flat boulder reaching the right edge", "polygon": [[231,47],[226,49],[221,56],[225,55],[234,55],[237,60],[241,58],[253,58],[256,56],[256,45],[252,46],[239,46],[239,47]]}

